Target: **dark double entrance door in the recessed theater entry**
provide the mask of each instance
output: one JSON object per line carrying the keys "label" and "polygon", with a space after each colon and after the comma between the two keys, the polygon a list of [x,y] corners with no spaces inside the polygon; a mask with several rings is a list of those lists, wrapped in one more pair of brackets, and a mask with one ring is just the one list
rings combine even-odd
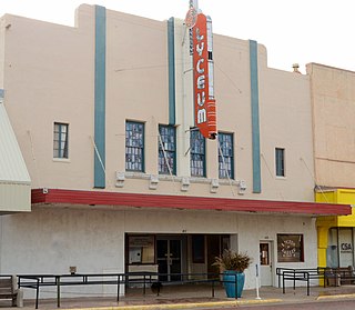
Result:
{"label": "dark double entrance door in the recessed theater entry", "polygon": [[180,281],[181,276],[181,239],[158,239],[156,262],[160,281]]}

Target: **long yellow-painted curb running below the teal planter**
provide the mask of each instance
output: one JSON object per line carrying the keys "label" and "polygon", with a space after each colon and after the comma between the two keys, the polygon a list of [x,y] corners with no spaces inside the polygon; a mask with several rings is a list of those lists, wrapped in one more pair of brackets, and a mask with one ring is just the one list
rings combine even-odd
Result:
{"label": "long yellow-painted curb running below the teal planter", "polygon": [[[75,308],[75,310],[165,310],[165,309],[193,309],[193,308],[212,308],[212,307],[235,307],[242,304],[257,303],[277,303],[282,299],[255,299],[255,300],[236,300],[236,301],[214,301],[214,302],[191,302],[191,303],[171,303],[171,304],[139,304],[139,306],[114,306],[114,307],[94,307],[94,308]],[[72,309],[63,309],[72,310]]]}

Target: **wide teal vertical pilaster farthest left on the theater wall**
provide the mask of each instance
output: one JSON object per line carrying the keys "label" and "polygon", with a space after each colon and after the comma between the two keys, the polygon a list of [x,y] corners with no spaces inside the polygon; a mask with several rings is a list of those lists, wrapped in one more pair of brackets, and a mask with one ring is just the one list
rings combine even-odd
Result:
{"label": "wide teal vertical pilaster farthest left on the theater wall", "polygon": [[105,188],[106,10],[95,6],[94,188]]}

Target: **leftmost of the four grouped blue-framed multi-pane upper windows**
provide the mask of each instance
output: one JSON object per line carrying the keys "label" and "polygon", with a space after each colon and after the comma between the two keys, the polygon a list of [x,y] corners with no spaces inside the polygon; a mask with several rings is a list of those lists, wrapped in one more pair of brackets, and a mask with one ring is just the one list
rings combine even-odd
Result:
{"label": "leftmost of the four grouped blue-framed multi-pane upper windows", "polygon": [[144,170],[144,124],[125,122],[125,170]]}

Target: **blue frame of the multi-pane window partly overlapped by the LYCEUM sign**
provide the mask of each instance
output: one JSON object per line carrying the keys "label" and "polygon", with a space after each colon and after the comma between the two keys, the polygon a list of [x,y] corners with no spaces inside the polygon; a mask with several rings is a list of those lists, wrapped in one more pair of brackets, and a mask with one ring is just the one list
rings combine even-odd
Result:
{"label": "blue frame of the multi-pane window partly overlapped by the LYCEUM sign", "polygon": [[[197,136],[196,138],[199,139],[195,139],[194,137],[192,137],[195,133]],[[193,141],[199,141],[199,143],[202,143],[203,152],[197,152],[197,150],[195,150]],[[194,156],[201,157],[202,160],[197,160],[197,161],[193,160]],[[193,162],[195,163],[202,162],[202,164],[193,166],[192,164]],[[202,171],[202,173],[193,173],[193,171]],[[191,177],[196,177],[196,178],[206,177],[206,139],[202,136],[202,133],[197,128],[190,129],[190,174]]]}

